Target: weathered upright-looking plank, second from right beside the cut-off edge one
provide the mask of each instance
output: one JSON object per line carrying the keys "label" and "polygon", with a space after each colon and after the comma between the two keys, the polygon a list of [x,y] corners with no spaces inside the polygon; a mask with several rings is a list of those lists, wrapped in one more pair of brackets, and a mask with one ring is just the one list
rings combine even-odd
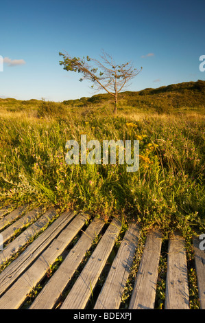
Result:
{"label": "weathered upright-looking plank, second from right beside the cut-off edge one", "polygon": [[178,232],[169,240],[165,309],[189,309],[185,241]]}

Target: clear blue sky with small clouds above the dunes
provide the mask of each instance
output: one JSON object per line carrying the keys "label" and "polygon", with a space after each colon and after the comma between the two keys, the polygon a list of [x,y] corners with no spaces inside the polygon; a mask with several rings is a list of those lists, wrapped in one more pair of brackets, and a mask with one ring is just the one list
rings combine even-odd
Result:
{"label": "clear blue sky with small clouds above the dunes", "polygon": [[132,60],[143,71],[130,91],[205,80],[204,0],[10,0],[0,7],[1,98],[93,96],[80,74],[62,69],[59,52],[99,58],[104,49],[117,63]]}

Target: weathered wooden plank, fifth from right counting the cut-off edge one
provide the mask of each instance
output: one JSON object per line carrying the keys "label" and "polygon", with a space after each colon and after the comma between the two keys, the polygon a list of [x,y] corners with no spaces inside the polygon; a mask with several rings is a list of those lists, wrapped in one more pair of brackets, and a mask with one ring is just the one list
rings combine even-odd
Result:
{"label": "weathered wooden plank, fifth from right counting the cut-off edge one", "polygon": [[86,307],[120,231],[120,221],[112,220],[60,309],[84,309]]}

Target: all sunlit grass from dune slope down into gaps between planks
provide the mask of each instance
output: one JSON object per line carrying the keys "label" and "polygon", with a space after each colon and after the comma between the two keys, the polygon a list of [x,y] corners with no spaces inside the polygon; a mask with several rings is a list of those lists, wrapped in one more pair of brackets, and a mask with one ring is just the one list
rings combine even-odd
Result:
{"label": "all sunlit grass from dune slope down into gaps between planks", "polygon": [[[128,306],[145,237],[152,227],[164,234],[156,308],[164,308],[167,238],[174,230],[186,238],[190,306],[199,307],[191,241],[193,234],[205,230],[204,96],[196,89],[191,102],[191,92],[175,90],[169,93],[166,87],[144,90],[143,96],[122,94],[117,115],[112,115],[106,96],[64,103],[0,100],[1,207],[31,203],[32,208],[43,203],[45,207],[58,205],[62,211],[84,210],[105,221],[117,216],[123,228],[129,220],[141,225],[122,309]],[[82,134],[87,135],[87,142],[99,140],[101,144],[103,140],[139,140],[138,171],[127,172],[126,165],[118,161],[115,165],[67,165],[65,144],[67,140],[80,143]],[[55,270],[51,268],[48,274],[51,271]]]}

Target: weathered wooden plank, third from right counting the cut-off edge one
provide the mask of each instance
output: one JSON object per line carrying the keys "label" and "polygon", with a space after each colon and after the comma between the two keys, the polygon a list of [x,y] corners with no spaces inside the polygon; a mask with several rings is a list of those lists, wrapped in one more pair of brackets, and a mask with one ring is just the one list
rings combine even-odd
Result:
{"label": "weathered wooden plank, third from right counting the cut-off edge one", "polygon": [[149,232],[129,309],[154,309],[161,245],[162,234],[157,230]]}

